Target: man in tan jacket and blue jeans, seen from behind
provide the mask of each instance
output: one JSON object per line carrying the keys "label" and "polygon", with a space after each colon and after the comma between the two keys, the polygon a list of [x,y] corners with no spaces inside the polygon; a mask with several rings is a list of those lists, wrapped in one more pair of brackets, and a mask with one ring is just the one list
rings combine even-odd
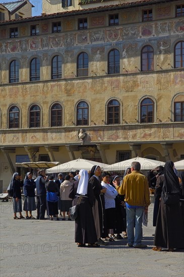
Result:
{"label": "man in tan jacket and blue jeans, seen from behind", "polygon": [[141,164],[133,162],[131,164],[131,174],[125,176],[120,187],[116,186],[118,194],[125,194],[128,232],[127,245],[130,247],[134,246],[134,248],[147,247],[147,245],[142,244],[142,219],[143,212],[148,213],[150,193],[148,179],[140,173],[140,169]]}

